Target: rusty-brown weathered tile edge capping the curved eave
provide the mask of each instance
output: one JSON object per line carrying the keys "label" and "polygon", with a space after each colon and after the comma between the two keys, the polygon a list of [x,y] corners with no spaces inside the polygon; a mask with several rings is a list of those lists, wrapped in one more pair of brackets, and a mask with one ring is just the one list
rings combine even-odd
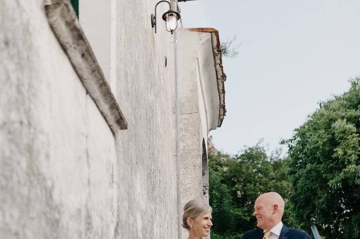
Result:
{"label": "rusty-brown weathered tile edge capping the curved eave", "polygon": [[225,108],[225,87],[224,82],[226,80],[226,75],[223,71],[222,67],[222,52],[220,48],[220,38],[219,38],[219,31],[214,28],[189,28],[189,31],[198,31],[198,32],[209,32],[211,33],[211,42],[213,46],[213,55],[215,61],[215,70],[217,75],[218,81],[218,92],[219,92],[219,99],[220,99],[220,107],[219,107],[219,121],[218,127],[222,125],[222,120],[226,115],[226,108]]}

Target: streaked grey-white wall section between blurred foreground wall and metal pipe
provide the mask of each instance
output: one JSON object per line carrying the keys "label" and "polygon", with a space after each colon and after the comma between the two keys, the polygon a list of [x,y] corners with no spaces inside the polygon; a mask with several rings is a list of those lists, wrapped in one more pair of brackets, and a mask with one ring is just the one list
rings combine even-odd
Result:
{"label": "streaked grey-white wall section between blurred foreground wall and metal pipe", "polygon": [[[156,0],[118,1],[117,95],[128,130],[119,132],[120,238],[176,238],[173,152],[173,35],[158,8],[157,34],[150,14]],[[167,67],[165,67],[165,57]]]}

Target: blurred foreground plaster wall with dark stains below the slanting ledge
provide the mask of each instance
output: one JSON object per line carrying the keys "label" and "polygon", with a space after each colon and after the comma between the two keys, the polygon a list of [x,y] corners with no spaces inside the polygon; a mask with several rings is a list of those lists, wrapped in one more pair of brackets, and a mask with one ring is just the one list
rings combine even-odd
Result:
{"label": "blurred foreground plaster wall with dark stains below the slanting ledge", "polygon": [[0,9],[0,238],[113,238],[114,138],[42,3]]}

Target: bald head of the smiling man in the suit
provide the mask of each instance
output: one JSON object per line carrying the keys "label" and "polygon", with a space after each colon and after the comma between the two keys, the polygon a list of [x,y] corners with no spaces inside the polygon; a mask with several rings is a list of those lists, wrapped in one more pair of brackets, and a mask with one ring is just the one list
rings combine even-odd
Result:
{"label": "bald head of the smiling man in the suit", "polygon": [[261,194],[255,201],[254,213],[257,226],[269,231],[281,221],[284,214],[284,199],[277,192],[266,192]]}

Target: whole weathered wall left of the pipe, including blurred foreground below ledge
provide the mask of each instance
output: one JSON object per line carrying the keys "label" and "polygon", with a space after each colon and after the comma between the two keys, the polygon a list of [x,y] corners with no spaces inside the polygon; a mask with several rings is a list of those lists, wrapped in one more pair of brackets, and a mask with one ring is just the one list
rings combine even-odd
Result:
{"label": "whole weathered wall left of the pipe, including blurred foreground below ledge", "polygon": [[0,8],[0,238],[175,238],[173,38],[161,16],[153,33],[156,1],[117,1],[115,136],[42,4]]}

